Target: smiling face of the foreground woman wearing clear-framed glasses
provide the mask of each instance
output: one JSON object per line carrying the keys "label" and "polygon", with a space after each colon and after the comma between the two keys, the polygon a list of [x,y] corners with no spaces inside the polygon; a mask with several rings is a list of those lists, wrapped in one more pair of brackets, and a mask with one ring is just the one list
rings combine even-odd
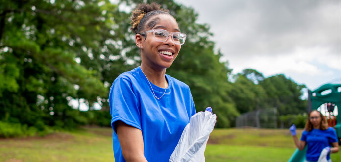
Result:
{"label": "smiling face of the foreground woman wearing clear-framed glasses", "polygon": [[[146,22],[142,32],[152,29],[179,32],[176,20],[167,14],[151,17]],[[166,41],[161,42],[154,38],[153,32],[148,32],[144,35],[136,34],[135,42],[137,46],[141,46],[141,66],[148,66],[152,69],[163,70],[169,68],[181,49],[181,45],[173,42],[171,35],[169,35]]]}

